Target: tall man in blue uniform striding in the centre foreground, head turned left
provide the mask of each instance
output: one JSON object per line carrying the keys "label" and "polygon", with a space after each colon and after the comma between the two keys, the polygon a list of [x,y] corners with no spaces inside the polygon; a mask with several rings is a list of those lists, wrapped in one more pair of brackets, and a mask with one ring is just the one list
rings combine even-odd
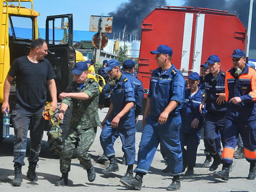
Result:
{"label": "tall man in blue uniform striding in the centre foreground, head turned left", "polygon": [[132,179],[121,179],[121,183],[141,189],[142,178],[148,173],[156,149],[161,142],[166,153],[169,172],[173,176],[167,190],[180,189],[182,172],[182,150],[180,145],[180,109],[184,101],[185,79],[171,63],[172,49],[160,45],[155,60],[159,68],[150,79],[149,94],[142,123],[144,125],[138,152],[138,164]]}

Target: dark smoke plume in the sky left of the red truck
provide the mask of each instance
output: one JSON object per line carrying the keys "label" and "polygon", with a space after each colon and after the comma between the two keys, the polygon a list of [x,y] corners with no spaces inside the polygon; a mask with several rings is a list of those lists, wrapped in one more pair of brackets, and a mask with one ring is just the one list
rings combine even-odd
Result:
{"label": "dark smoke plume in the sky left of the red truck", "polygon": [[[141,34],[141,22],[142,20],[156,7],[166,5],[165,0],[129,0],[129,2],[122,3],[118,6],[117,10],[108,13],[109,16],[113,16],[113,32],[116,38],[119,33],[126,27],[127,33]],[[112,35],[114,34],[112,32]],[[109,34],[110,35],[110,34]],[[111,36],[111,35],[110,35]]]}

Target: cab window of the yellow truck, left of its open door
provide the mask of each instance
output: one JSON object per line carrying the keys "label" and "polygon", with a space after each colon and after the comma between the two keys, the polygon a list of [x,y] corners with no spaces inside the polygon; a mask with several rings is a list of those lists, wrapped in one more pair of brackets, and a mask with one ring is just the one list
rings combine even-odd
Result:
{"label": "cab window of the yellow truck, left of its open door", "polygon": [[9,37],[16,40],[32,40],[32,19],[9,16]]}

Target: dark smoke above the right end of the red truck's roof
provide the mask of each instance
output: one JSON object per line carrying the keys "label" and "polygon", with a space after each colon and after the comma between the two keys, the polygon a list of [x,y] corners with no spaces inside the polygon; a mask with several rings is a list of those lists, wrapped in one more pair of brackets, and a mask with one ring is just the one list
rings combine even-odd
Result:
{"label": "dark smoke above the right end of the red truck's roof", "polygon": [[[250,0],[186,0],[183,6],[203,7],[209,9],[226,10],[231,14],[236,12],[236,15],[248,27],[249,6]],[[250,49],[256,49],[256,0],[253,2],[252,25],[251,25],[251,40]]]}

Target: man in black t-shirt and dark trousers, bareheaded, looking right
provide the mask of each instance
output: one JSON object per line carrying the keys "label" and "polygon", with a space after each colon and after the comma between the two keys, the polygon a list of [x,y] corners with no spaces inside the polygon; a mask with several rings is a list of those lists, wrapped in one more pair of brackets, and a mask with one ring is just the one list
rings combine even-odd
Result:
{"label": "man in black t-shirt and dark trousers, bareheaded, looking right", "polygon": [[25,165],[27,133],[30,127],[30,152],[27,177],[31,181],[37,181],[35,168],[40,153],[44,119],[42,112],[46,104],[46,83],[48,85],[53,111],[57,109],[57,90],[54,81],[55,74],[50,62],[44,59],[47,55],[47,44],[43,39],[35,39],[31,42],[30,53],[15,59],[6,76],[4,83],[4,101],[2,113],[10,110],[9,93],[11,83],[16,77],[17,103],[12,111],[12,121],[15,133],[14,139],[14,180],[13,186],[20,186],[22,182],[21,167]]}

